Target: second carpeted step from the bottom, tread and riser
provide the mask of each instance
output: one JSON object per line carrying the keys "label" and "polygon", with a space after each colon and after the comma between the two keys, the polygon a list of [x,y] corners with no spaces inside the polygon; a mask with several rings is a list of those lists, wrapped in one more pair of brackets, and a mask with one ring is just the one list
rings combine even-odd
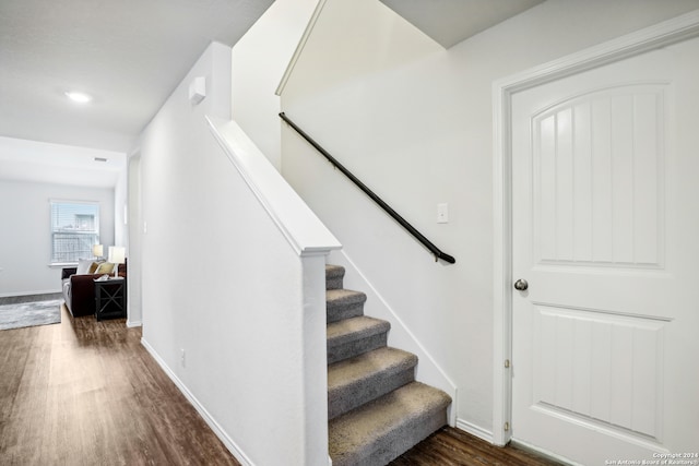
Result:
{"label": "second carpeted step from the bottom, tread and riser", "polygon": [[328,418],[332,419],[415,380],[417,357],[378,348],[328,367]]}

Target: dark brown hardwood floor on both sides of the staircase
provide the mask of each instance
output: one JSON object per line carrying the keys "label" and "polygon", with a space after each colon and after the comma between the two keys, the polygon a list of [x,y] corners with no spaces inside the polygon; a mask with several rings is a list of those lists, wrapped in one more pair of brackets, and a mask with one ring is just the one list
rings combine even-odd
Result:
{"label": "dark brown hardwood floor on both sides of the staircase", "polygon": [[[0,464],[238,465],[140,340],[64,307],[60,324],[0,331]],[[554,464],[452,428],[391,463]]]}

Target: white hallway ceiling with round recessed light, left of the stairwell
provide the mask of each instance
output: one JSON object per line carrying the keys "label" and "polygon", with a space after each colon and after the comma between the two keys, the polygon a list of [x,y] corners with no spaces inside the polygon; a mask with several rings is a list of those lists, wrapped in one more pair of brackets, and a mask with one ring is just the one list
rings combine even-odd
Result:
{"label": "white hallway ceiling with round recessed light, left of the stairwell", "polygon": [[[272,2],[0,0],[0,136],[126,153],[206,46],[234,45]],[[7,147],[0,178],[42,178]]]}

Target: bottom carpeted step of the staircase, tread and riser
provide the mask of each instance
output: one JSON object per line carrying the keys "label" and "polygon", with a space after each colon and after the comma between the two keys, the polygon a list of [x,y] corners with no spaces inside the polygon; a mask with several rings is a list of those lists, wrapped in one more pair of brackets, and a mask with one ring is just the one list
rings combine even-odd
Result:
{"label": "bottom carpeted step of the staircase, tread and riser", "polygon": [[329,422],[333,466],[380,466],[447,423],[449,395],[412,382]]}

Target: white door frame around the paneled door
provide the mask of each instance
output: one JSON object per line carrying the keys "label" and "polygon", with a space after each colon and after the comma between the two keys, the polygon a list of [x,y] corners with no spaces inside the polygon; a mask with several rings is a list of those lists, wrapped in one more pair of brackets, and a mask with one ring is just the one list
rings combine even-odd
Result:
{"label": "white door frame around the paneled door", "polygon": [[699,36],[699,10],[612,39],[493,84],[493,443],[511,440],[512,417],[512,95],[537,85]]}

